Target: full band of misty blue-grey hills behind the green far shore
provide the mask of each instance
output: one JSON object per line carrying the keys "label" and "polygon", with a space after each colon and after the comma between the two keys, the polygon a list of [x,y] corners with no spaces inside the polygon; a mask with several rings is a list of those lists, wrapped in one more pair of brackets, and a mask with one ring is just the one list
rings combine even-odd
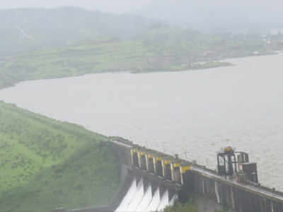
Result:
{"label": "full band of misty blue-grey hills behind the green far shore", "polygon": [[144,40],[164,23],[205,33],[266,32],[282,26],[279,8],[225,2],[155,0],[143,10],[122,15],[76,7],[0,10],[0,59],[93,40]]}

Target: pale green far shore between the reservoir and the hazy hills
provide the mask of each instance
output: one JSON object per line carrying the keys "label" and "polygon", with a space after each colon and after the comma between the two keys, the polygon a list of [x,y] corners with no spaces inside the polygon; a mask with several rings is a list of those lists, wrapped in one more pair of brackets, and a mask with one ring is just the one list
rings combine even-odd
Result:
{"label": "pale green far shore between the reservoir and the hazy hills", "polygon": [[[266,45],[259,35],[206,35],[168,25],[156,25],[136,39],[108,37],[37,52],[25,52],[0,63],[0,88],[20,81],[80,76],[86,73],[183,71],[231,64],[221,59],[271,54],[282,49],[280,37]],[[209,61],[194,65],[200,61]],[[214,62],[212,62],[214,61]]]}

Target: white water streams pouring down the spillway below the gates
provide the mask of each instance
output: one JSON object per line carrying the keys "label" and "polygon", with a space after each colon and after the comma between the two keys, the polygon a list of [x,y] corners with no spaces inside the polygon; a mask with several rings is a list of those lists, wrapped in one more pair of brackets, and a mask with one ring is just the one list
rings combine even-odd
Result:
{"label": "white water streams pouring down the spillway below the gates", "polygon": [[144,182],[142,178],[139,180],[134,178],[116,211],[162,211],[166,206],[172,206],[176,199],[177,194],[170,198],[168,189],[161,192],[161,189],[154,188],[151,182]]}

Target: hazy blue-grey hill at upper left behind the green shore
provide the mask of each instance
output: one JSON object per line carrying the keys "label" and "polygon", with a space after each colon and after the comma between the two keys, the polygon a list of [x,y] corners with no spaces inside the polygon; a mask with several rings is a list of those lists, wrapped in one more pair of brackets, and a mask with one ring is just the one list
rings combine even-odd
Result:
{"label": "hazy blue-grey hill at upper left behind the green shore", "polygon": [[134,15],[82,8],[23,8],[0,11],[0,58],[98,38],[133,38],[153,24]]}

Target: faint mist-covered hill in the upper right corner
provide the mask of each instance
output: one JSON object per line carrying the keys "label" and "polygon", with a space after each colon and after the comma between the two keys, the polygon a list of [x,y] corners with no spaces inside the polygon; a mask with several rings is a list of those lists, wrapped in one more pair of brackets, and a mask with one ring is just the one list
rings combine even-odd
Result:
{"label": "faint mist-covered hill in the upper right corner", "polygon": [[154,0],[137,13],[209,32],[283,28],[282,1]]}

